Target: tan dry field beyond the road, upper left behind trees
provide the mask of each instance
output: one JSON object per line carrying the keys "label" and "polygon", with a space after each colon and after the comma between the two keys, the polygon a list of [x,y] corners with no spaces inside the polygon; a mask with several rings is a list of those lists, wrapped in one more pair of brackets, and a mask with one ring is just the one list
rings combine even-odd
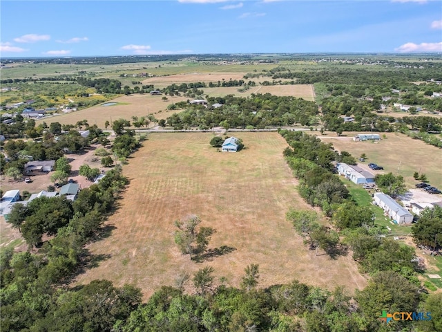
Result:
{"label": "tan dry field beyond the road, upper left behind trees", "polygon": [[167,96],[168,100],[162,100],[161,98],[161,95],[150,95],[148,93],[143,95],[124,95],[109,100],[108,102],[117,103],[113,106],[104,107],[99,104],[94,107],[89,107],[88,109],[81,109],[79,111],[53,116],[52,118],[37,120],[37,124],[42,121],[47,124],[55,121],[60,122],[61,124],[75,124],[77,121],[86,119],[89,124],[97,124],[99,128],[104,129],[104,122],[106,122],[106,120],[109,122],[119,118],[131,120],[132,116],[140,117],[148,116],[149,114],[153,114],[155,118],[160,120],[171,116],[177,111],[182,111],[167,111],[167,105],[189,99],[176,96]]}

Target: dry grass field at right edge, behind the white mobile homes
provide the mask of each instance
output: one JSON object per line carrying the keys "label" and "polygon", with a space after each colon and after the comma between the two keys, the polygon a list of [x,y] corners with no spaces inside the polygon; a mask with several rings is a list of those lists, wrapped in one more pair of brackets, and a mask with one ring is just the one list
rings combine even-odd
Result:
{"label": "dry grass field at right edge, behind the white mobile homes", "polygon": [[414,187],[416,181],[413,174],[419,172],[426,174],[432,185],[442,188],[441,149],[401,133],[385,133],[386,138],[379,142],[354,142],[355,134],[345,132],[347,137],[337,137],[336,133],[328,133],[320,138],[324,142],[332,142],[339,151],[348,151],[355,158],[366,154],[366,163],[381,165],[384,172],[401,174],[409,187]]}

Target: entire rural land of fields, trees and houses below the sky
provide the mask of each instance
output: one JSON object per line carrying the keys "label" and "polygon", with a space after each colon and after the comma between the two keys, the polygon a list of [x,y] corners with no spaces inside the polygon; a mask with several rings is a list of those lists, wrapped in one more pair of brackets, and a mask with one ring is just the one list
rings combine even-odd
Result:
{"label": "entire rural land of fields, trees and houses below the sky", "polygon": [[442,331],[440,54],[0,73],[2,331]]}

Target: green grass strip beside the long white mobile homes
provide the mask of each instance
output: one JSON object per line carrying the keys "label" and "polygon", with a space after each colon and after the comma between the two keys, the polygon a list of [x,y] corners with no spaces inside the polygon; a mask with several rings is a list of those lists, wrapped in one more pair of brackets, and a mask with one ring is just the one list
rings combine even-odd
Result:
{"label": "green grass strip beside the long white mobile homes", "polygon": [[[395,223],[390,222],[390,220],[384,216],[384,212],[381,208],[372,204],[372,196],[367,190],[365,190],[361,185],[356,185],[352,181],[346,180],[341,177],[343,183],[347,186],[350,194],[360,206],[368,206],[376,215],[376,220],[374,223],[376,225],[382,225],[384,227],[390,227],[390,235],[393,237],[403,237],[410,235],[411,228],[409,226],[399,226]],[[371,190],[373,192],[373,190]]]}

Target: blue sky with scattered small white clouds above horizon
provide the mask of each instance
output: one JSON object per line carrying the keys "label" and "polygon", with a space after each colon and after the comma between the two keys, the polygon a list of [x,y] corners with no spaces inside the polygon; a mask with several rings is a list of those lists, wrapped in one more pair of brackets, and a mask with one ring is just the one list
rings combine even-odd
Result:
{"label": "blue sky with scattered small white clouds above horizon", "polygon": [[441,0],[2,0],[1,57],[439,52]]}

